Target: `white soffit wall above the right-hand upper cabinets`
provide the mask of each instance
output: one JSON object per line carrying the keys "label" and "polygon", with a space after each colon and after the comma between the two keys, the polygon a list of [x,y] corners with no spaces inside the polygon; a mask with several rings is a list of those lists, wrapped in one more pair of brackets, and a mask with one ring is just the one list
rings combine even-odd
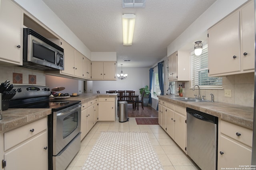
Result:
{"label": "white soffit wall above the right-hand upper cabinets", "polygon": [[178,50],[194,49],[195,41],[207,41],[207,29],[222,20],[247,0],[217,0],[196,21],[194,21],[178,38],[167,48],[167,56]]}

